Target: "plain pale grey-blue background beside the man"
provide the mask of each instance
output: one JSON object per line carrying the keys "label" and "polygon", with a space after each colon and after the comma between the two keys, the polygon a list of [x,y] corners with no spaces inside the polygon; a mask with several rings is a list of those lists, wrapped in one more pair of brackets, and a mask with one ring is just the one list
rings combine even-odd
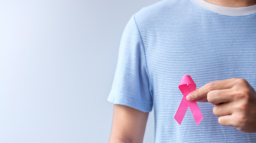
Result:
{"label": "plain pale grey-blue background beside the man", "polygon": [[158,1],[1,0],[0,142],[108,142],[123,29]]}

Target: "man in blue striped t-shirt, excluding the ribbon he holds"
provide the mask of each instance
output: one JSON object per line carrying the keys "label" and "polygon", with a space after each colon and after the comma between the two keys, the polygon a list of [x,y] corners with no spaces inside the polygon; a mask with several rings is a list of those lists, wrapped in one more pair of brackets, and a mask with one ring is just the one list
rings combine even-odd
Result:
{"label": "man in blue striped t-shirt, excluding the ribbon he holds", "polygon": [[[108,101],[110,143],[141,143],[154,107],[155,142],[256,142],[256,1],[164,0],[128,22]],[[191,75],[203,120],[174,119]]]}

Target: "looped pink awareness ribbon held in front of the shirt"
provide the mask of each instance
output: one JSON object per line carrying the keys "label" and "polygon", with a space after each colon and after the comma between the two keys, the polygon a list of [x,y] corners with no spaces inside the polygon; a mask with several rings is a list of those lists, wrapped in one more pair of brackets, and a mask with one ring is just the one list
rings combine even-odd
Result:
{"label": "looped pink awareness ribbon held in front of the shirt", "polygon": [[196,101],[186,100],[186,96],[190,92],[196,90],[196,84],[190,75],[182,76],[181,82],[179,84],[179,89],[181,90],[181,93],[183,94],[183,98],[182,98],[180,106],[174,116],[174,119],[181,125],[181,122],[187,112],[187,108],[189,107],[192,112],[192,115],[196,121],[196,124],[198,125],[203,119],[203,115],[199,109],[199,106]]}

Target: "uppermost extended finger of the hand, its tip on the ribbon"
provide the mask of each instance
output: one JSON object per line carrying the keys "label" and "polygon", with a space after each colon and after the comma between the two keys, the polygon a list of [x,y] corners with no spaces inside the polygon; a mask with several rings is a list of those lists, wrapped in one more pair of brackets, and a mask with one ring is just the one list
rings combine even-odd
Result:
{"label": "uppermost extended finger of the hand, its tip on the ribbon", "polygon": [[194,100],[198,100],[200,98],[205,97],[207,93],[212,90],[229,89],[233,87],[233,80],[234,79],[226,79],[226,80],[209,82],[204,86],[189,93],[186,99],[188,101],[194,101]]}

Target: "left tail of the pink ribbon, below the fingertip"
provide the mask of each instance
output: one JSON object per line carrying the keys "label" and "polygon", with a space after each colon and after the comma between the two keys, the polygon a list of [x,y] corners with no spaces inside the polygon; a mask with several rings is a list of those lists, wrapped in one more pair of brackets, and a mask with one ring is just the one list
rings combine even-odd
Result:
{"label": "left tail of the pink ribbon, below the fingertip", "polygon": [[182,120],[183,120],[183,118],[184,118],[186,112],[187,112],[187,108],[188,108],[188,104],[187,104],[187,102],[186,102],[186,99],[185,99],[184,96],[183,96],[183,98],[182,98],[182,100],[181,100],[181,103],[180,103],[180,105],[179,105],[179,107],[178,107],[178,110],[177,110],[177,112],[176,112],[176,114],[175,114],[175,116],[174,116],[174,119],[175,119],[180,125],[181,125],[181,122],[182,122]]}

